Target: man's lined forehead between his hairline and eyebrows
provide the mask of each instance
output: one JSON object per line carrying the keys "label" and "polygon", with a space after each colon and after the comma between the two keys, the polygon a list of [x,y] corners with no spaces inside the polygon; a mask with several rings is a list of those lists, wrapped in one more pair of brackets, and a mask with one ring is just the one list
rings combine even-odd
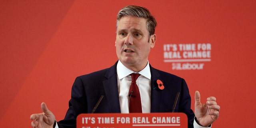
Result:
{"label": "man's lined forehead between his hairline and eyebrows", "polygon": [[118,29],[146,29],[146,19],[136,16],[124,16],[118,22]]}

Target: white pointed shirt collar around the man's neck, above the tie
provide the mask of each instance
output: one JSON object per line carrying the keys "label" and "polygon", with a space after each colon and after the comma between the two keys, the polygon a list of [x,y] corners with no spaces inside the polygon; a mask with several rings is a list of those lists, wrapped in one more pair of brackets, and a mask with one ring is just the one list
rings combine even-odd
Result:
{"label": "white pointed shirt collar around the man's neck, above the tie", "polygon": [[[117,75],[119,80],[121,80],[122,78],[134,73],[132,70],[126,68],[124,66],[124,64],[122,64],[119,60],[116,66],[116,71],[117,71]],[[136,72],[146,78],[148,78],[149,80],[151,79],[151,73],[150,73],[150,67],[149,67],[149,63],[146,65],[146,67],[144,69],[142,69],[140,72]]]}

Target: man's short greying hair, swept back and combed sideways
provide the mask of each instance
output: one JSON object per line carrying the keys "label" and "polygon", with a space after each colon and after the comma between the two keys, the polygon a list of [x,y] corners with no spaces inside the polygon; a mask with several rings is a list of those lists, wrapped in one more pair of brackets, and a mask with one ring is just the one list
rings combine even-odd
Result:
{"label": "man's short greying hair, swept back and combed sideways", "polygon": [[148,36],[150,37],[151,35],[155,34],[155,28],[157,23],[154,16],[150,14],[148,9],[140,6],[133,6],[133,5],[122,8],[117,14],[116,28],[119,20],[124,16],[136,16],[138,18],[146,19]]}

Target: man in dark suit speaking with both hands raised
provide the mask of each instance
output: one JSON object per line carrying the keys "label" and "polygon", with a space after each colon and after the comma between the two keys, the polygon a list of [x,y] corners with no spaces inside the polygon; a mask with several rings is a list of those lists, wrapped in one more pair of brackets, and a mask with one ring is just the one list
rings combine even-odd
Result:
{"label": "man in dark suit speaking with both hands raised", "polygon": [[[116,54],[118,61],[114,66],[79,76],[73,86],[69,109],[64,120],[56,123],[55,116],[42,103],[43,113],[32,114],[30,119],[34,128],[76,128],[76,117],[81,113],[92,113],[99,98],[96,113],[129,113],[133,92],[129,88],[130,74],[140,74],[136,80],[139,88],[142,113],[184,112],[188,116],[188,127],[210,126],[219,115],[220,106],[215,97],[209,97],[205,104],[200,102],[200,94],[195,93],[195,114],[190,109],[191,98],[184,79],[152,68],[148,62],[150,49],[154,48],[156,20],[150,12],[139,6],[126,6],[118,12],[116,23]],[[157,80],[164,83],[158,88]],[[130,95],[130,96],[129,96]]]}

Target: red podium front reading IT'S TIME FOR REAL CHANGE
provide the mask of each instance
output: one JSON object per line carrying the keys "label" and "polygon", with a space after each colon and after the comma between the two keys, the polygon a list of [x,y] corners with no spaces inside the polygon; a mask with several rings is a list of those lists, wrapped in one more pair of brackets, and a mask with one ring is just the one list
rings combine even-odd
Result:
{"label": "red podium front reading IT'S TIME FOR REAL CHANGE", "polygon": [[184,113],[80,114],[76,128],[188,128]]}

